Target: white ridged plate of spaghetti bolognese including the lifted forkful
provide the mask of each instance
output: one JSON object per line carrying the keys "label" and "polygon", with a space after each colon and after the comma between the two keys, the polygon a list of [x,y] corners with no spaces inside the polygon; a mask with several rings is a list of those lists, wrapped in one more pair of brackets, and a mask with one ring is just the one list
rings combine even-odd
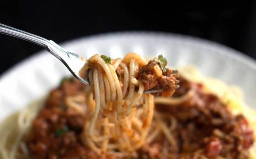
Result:
{"label": "white ridged plate of spaghetti bolognese including the lifted forkful", "polygon": [[[104,34],[62,46],[87,61],[81,72],[90,86],[46,51],[3,74],[0,158],[256,158],[249,57],[165,33]],[[144,93],[150,89],[162,91]]]}

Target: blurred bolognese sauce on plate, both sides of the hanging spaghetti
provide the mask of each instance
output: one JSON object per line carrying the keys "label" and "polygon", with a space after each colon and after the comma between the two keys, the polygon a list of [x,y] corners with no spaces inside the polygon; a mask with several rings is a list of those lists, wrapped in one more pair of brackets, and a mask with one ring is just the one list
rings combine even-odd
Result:
{"label": "blurred bolognese sauce on plate, both sides of the hanging spaghetti", "polygon": [[[140,72],[140,74],[144,73],[148,72],[146,70]],[[144,80],[148,83],[148,88],[151,87],[152,83],[147,79]],[[232,115],[217,96],[203,93],[200,84],[180,78],[180,85],[174,96],[182,96],[190,89],[194,89],[196,94],[178,105],[155,106],[167,125],[170,121],[165,120],[165,116],[172,116],[176,120],[174,129],[169,130],[174,135],[176,144],[171,145],[164,135],[160,134],[153,142],[145,143],[137,150],[138,158],[197,159],[202,156],[210,159],[217,156],[248,158],[248,149],[253,143],[253,131],[249,128],[245,117]],[[85,96],[84,89],[85,86],[79,81],[65,79],[61,86],[51,91],[44,107],[33,121],[27,140],[31,158],[100,158],[81,141],[83,123],[88,117],[86,114],[77,113],[74,108],[67,107],[65,103],[68,97]],[[84,109],[86,109],[85,100],[84,98],[78,101]],[[114,159],[118,156],[106,154],[105,158]]]}

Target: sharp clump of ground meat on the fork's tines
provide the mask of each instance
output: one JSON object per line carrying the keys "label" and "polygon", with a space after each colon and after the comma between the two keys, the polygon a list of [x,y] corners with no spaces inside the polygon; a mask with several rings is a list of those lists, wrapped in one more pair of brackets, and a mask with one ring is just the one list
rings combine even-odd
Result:
{"label": "sharp clump of ground meat on the fork's tines", "polygon": [[177,84],[176,78],[172,75],[172,70],[167,68],[163,71],[163,75],[157,77],[154,66],[160,65],[157,61],[151,60],[147,65],[143,66],[138,72],[138,79],[141,79],[145,90],[152,88],[163,89],[162,95],[164,97],[171,96],[175,91],[175,84]]}

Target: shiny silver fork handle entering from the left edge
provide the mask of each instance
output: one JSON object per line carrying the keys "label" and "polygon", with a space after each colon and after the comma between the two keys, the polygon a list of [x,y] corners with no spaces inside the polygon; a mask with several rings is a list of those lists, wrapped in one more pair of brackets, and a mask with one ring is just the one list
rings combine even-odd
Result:
{"label": "shiny silver fork handle entering from the left edge", "polygon": [[28,33],[28,32],[25,32],[1,23],[0,23],[0,33],[5,35],[10,35],[16,38],[20,38],[20,39],[29,41],[31,43],[40,45],[46,48],[48,52],[53,54],[55,57],[57,57],[61,61],[63,59],[69,58],[69,55],[66,53],[66,51],[51,40],[47,40],[37,35],[31,34],[31,33]]}

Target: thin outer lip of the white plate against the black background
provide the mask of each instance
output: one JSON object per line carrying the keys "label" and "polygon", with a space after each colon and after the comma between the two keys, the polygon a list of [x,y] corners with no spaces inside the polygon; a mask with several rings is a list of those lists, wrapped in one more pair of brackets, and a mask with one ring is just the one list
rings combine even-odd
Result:
{"label": "thin outer lip of the white plate against the black background", "polygon": [[[76,43],[78,41],[82,40],[97,40],[97,39],[103,39],[103,38],[121,38],[121,37],[127,37],[127,36],[135,36],[135,37],[157,37],[157,38],[167,38],[169,40],[175,39],[176,41],[186,41],[191,43],[192,45],[201,45],[206,46],[207,48],[214,48],[216,50],[219,50],[219,52],[223,52],[226,56],[229,56],[233,59],[239,59],[239,61],[245,63],[249,67],[256,70],[256,59],[253,59],[252,57],[235,50],[231,47],[228,47],[226,45],[220,44],[218,42],[210,41],[208,39],[203,39],[200,37],[194,37],[190,35],[184,35],[184,34],[178,34],[178,33],[169,33],[169,32],[160,32],[160,31],[118,31],[118,32],[107,32],[107,33],[99,33],[94,34],[90,36],[82,36],[79,38],[71,39],[64,41],[60,43],[60,46],[70,45],[71,43]],[[43,56],[45,53],[45,49],[42,49],[33,55],[28,56],[27,58],[21,60],[20,62],[14,64],[10,68],[8,68],[6,71],[4,71],[0,75],[0,81],[2,81],[6,76],[8,76],[10,73],[12,73],[14,70],[16,70],[18,67],[21,67],[22,65],[25,65],[28,61],[31,61],[39,56]]]}

